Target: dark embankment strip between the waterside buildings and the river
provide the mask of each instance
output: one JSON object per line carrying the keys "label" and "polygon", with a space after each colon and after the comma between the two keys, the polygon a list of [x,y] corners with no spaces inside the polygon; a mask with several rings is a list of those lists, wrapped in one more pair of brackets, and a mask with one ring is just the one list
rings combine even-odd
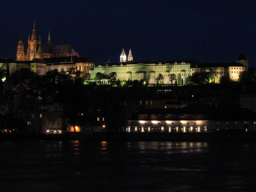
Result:
{"label": "dark embankment strip between the waterside buildings and the river", "polygon": [[256,141],[256,133],[82,133],[68,134],[0,134],[9,140],[88,140],[88,141]]}

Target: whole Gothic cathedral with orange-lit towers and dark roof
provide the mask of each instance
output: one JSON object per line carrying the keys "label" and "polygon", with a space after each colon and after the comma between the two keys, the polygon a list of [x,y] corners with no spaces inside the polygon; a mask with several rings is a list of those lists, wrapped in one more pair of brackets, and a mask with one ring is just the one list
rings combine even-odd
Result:
{"label": "whole Gothic cathedral with orange-lit towers and dark roof", "polygon": [[25,52],[25,47],[20,36],[17,45],[17,61],[31,61],[34,58],[50,58],[50,57],[67,57],[67,56],[79,56],[77,52],[70,46],[70,44],[64,45],[52,45],[50,32],[48,34],[47,45],[41,44],[40,35],[37,36],[35,21],[33,26],[32,35],[28,38],[28,48]]}

